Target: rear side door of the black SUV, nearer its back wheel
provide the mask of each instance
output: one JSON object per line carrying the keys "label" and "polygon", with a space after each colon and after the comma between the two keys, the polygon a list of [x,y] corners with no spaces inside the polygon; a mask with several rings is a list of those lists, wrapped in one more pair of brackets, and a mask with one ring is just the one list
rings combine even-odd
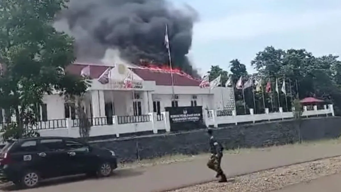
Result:
{"label": "rear side door of the black SUV, nearer its back wheel", "polygon": [[45,159],[42,164],[43,177],[51,178],[71,174],[69,156],[63,139],[41,139],[39,148],[38,155]]}

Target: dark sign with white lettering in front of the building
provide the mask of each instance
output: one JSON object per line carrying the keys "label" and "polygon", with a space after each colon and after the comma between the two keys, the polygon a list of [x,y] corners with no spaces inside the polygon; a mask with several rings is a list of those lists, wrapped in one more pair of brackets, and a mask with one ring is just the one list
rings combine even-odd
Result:
{"label": "dark sign with white lettering in front of the building", "polygon": [[171,131],[185,131],[203,128],[201,106],[165,107],[170,114]]}

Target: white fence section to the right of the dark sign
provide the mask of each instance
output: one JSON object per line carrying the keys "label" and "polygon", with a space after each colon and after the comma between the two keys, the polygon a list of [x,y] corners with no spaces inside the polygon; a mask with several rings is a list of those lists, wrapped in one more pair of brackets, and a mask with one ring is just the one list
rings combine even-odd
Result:
{"label": "white fence section to the right of the dark sign", "polygon": [[[250,115],[235,115],[236,112],[232,111],[232,115],[226,115],[226,116],[217,116],[217,113],[219,113],[217,110],[208,110],[205,119],[206,126],[214,126],[217,127],[221,124],[238,124],[238,123],[244,123],[244,122],[260,122],[260,121],[271,121],[271,120],[283,120],[283,119],[290,119],[294,118],[293,112],[283,112],[282,107],[279,108],[279,112],[269,113],[269,109],[265,108],[265,113],[263,114],[254,114],[254,109],[250,109]],[[309,117],[309,116],[319,116],[319,115],[330,115],[334,116],[334,107],[332,104],[324,105],[324,109],[317,109],[317,106],[315,105],[313,107],[313,110],[307,110],[307,107],[303,107],[303,117]]]}

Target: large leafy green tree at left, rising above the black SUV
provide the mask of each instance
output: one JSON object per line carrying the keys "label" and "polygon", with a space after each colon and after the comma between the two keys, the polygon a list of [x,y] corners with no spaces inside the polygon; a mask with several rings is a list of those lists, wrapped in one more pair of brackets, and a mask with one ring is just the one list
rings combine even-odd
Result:
{"label": "large leafy green tree at left, rising above the black SUV", "polygon": [[75,60],[73,39],[51,23],[65,6],[66,0],[0,1],[0,108],[7,117],[16,118],[3,130],[16,129],[11,136],[5,134],[8,138],[32,131],[45,94],[80,96],[88,86],[81,77],[64,71]]}

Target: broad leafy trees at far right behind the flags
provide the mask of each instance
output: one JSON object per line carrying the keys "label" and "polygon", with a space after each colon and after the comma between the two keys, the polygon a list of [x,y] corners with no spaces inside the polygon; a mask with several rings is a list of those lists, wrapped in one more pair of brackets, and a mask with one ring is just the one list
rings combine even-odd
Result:
{"label": "broad leafy trees at far right behind the flags", "polygon": [[[341,61],[338,56],[315,57],[305,49],[282,50],[267,47],[256,54],[252,65],[263,78],[272,82],[276,78],[280,81],[290,80],[292,84],[287,87],[287,93],[293,94],[289,95],[288,100],[292,101],[296,95],[301,98],[320,97],[333,102],[337,114],[341,112]],[[285,96],[281,94],[282,106],[285,105],[283,97]]]}

